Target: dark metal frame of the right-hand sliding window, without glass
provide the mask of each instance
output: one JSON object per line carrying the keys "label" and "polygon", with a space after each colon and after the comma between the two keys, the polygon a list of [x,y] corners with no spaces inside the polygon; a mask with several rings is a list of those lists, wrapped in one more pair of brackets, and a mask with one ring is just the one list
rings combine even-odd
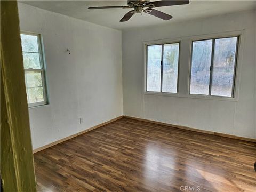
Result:
{"label": "dark metal frame of the right-hand sliding window, without glass", "polygon": [[[223,38],[232,38],[236,37],[236,54],[235,54],[235,63],[234,63],[234,71],[233,71],[233,84],[232,84],[232,92],[231,97],[228,96],[221,96],[221,95],[211,95],[212,89],[212,74],[213,74],[213,62],[214,62],[214,50],[215,50],[215,40],[216,39],[223,39]],[[235,84],[236,84],[236,75],[237,75],[237,62],[238,62],[238,52],[239,52],[239,45],[240,45],[241,34],[239,35],[229,35],[229,36],[222,36],[222,37],[212,37],[212,38],[202,38],[202,39],[191,39],[190,45],[190,61],[189,61],[189,82],[188,82],[188,95],[199,96],[199,97],[216,97],[216,98],[235,98]],[[190,93],[190,84],[191,84],[191,71],[192,71],[192,57],[193,57],[193,42],[197,41],[207,41],[212,40],[212,50],[211,50],[211,66],[210,66],[210,78],[209,78],[209,91],[208,94],[191,94]]]}

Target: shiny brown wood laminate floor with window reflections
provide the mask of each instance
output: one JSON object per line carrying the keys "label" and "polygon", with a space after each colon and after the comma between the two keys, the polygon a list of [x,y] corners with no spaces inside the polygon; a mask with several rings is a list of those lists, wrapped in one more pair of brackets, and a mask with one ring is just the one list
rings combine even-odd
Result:
{"label": "shiny brown wood laminate floor with window reflections", "polygon": [[127,118],[34,161],[38,191],[256,191],[256,143]]}

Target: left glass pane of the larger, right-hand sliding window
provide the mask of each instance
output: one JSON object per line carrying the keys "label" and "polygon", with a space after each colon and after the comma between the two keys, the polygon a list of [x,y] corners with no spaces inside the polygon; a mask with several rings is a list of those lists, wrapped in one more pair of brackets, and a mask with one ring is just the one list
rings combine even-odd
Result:
{"label": "left glass pane of the larger, right-hand sliding window", "polygon": [[193,42],[190,94],[209,94],[212,39]]}

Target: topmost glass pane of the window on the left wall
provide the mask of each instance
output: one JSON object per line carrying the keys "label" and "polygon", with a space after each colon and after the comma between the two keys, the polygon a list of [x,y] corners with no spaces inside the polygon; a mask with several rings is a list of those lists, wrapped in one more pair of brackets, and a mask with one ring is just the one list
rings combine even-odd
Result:
{"label": "topmost glass pane of the window on the left wall", "polygon": [[22,51],[39,52],[37,36],[21,34]]}

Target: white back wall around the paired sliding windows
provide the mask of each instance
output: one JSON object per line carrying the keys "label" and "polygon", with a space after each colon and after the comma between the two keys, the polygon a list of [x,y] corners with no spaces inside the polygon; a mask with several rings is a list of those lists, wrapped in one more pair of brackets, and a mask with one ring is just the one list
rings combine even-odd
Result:
{"label": "white back wall around the paired sliding windows", "polygon": [[[255,11],[248,11],[173,23],[162,27],[123,31],[124,115],[256,138],[255,18]],[[245,29],[243,55],[238,63],[240,68],[238,102],[142,94],[142,42],[243,29]],[[189,70],[188,50],[189,47],[181,45],[179,78],[183,92],[188,86],[186,79]]]}

